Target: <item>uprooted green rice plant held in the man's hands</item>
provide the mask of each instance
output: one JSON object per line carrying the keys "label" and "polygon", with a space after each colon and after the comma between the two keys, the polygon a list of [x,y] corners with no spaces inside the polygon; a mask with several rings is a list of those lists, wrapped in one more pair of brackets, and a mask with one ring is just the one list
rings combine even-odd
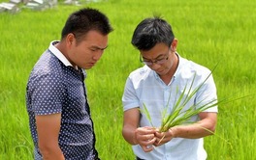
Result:
{"label": "uprooted green rice plant held in the man's hands", "polygon": [[[233,98],[233,99],[232,98],[225,98],[225,99],[222,99],[222,100],[213,99],[213,100],[208,101],[207,103],[203,103],[205,101],[205,99],[203,99],[203,100],[199,101],[196,104],[193,103],[191,106],[189,106],[189,108],[187,110],[184,110],[185,106],[188,105],[188,102],[192,99],[192,97],[207,82],[209,76],[212,74],[213,70],[216,67],[217,67],[217,65],[210,71],[207,78],[198,87],[196,87],[195,89],[192,89],[192,87],[194,85],[194,82],[195,82],[195,77],[196,77],[196,73],[195,73],[190,86],[186,85],[184,90],[182,91],[182,93],[178,97],[177,97],[177,93],[178,93],[178,87],[177,87],[176,88],[176,98],[175,98],[176,101],[173,105],[172,111],[170,112],[170,114],[168,114],[167,110],[169,108],[169,101],[170,101],[170,97],[171,97],[171,93],[170,93],[168,103],[167,103],[164,111],[162,112],[162,123],[161,123],[161,126],[159,127],[160,132],[166,132],[166,131],[168,131],[169,129],[171,129],[172,127],[174,127],[176,125],[184,125],[184,124],[194,123],[196,121],[191,121],[190,119],[192,117],[198,115],[199,113],[206,111],[208,108],[217,106],[220,103],[227,103],[227,102],[231,102],[231,101],[242,98],[242,97]],[[186,91],[187,91],[187,93],[185,93]],[[243,97],[245,97],[245,96],[243,96]],[[144,110],[141,110],[141,111],[146,116],[146,119],[149,120],[151,126],[153,126],[150,114],[149,114],[145,105],[144,105]],[[153,126],[153,127],[155,127],[155,126]],[[204,128],[202,126],[199,126],[199,127],[201,127],[203,129],[207,130],[208,132],[214,134],[213,132],[211,132],[207,128]]]}

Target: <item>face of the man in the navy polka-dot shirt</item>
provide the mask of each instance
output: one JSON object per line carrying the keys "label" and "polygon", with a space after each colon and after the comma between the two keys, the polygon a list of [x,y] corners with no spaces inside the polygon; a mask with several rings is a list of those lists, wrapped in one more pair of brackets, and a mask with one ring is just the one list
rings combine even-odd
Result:
{"label": "face of the man in the navy polka-dot shirt", "polygon": [[73,66],[84,69],[93,67],[108,46],[108,35],[103,36],[97,31],[89,31],[80,42],[75,37],[73,40],[69,46],[68,57]]}

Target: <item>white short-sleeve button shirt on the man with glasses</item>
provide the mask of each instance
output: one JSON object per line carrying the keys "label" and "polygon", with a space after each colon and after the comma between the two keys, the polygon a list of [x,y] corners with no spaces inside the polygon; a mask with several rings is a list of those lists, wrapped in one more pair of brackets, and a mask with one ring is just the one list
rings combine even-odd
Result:
{"label": "white short-sleeve button shirt on the man with glasses", "polygon": [[[178,55],[178,54],[177,54]],[[176,98],[192,85],[192,90],[203,84],[200,90],[191,98],[185,108],[193,104],[204,104],[217,100],[216,87],[207,67],[200,66],[188,61],[178,55],[179,63],[176,73],[170,84],[166,85],[159,75],[147,66],[138,68],[130,73],[127,78],[124,93],[122,96],[124,111],[138,108],[144,110],[144,105],[150,113],[152,123],[155,127],[161,126],[162,113],[167,107],[170,113],[176,102]],[[193,78],[195,80],[193,81]],[[185,96],[184,96],[185,97]],[[201,105],[199,105],[201,106]],[[184,109],[185,109],[184,108]],[[211,107],[205,112],[217,112],[217,106]],[[199,120],[198,116],[191,120]],[[149,120],[142,114],[140,126],[150,126]],[[133,146],[134,153],[141,159],[146,160],[203,160],[207,158],[207,152],[204,149],[204,140],[201,139],[183,139],[175,138],[171,142],[155,147],[150,152],[144,152],[139,145]]]}

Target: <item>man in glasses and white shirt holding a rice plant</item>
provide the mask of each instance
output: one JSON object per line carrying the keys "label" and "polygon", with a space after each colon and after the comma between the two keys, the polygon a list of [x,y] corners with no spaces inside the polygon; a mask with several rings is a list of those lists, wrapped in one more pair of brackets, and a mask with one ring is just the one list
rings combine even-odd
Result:
{"label": "man in glasses and white shirt holding a rice plant", "polygon": [[[161,126],[165,107],[170,113],[176,97],[188,90],[192,82],[192,89],[204,85],[186,104],[185,110],[193,104],[217,100],[210,70],[179,56],[172,27],[160,17],[145,18],[135,29],[132,44],[140,51],[145,66],[134,70],[127,78],[122,97],[122,133],[133,146],[137,159],[207,159],[203,138],[215,130],[217,106],[192,117],[194,123],[176,125],[166,132],[159,132],[156,127]],[[144,105],[153,126],[141,112]]]}

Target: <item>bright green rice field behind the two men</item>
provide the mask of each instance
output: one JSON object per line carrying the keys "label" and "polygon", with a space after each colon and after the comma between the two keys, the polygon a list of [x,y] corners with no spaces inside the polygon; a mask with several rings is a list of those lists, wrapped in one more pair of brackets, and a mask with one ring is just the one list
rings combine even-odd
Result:
{"label": "bright green rice field behind the two men", "polygon": [[60,39],[67,16],[81,7],[106,13],[114,28],[108,49],[97,66],[87,70],[85,80],[102,159],[134,158],[121,135],[121,96],[128,74],[142,67],[139,52],[130,43],[133,31],[154,13],[172,24],[181,56],[208,68],[219,63],[213,76],[220,99],[252,94],[219,106],[216,136],[206,138],[208,160],[256,159],[256,3],[109,0],[81,6],[59,3],[41,12],[0,13],[1,160],[32,159],[25,107],[27,78],[49,42]]}

